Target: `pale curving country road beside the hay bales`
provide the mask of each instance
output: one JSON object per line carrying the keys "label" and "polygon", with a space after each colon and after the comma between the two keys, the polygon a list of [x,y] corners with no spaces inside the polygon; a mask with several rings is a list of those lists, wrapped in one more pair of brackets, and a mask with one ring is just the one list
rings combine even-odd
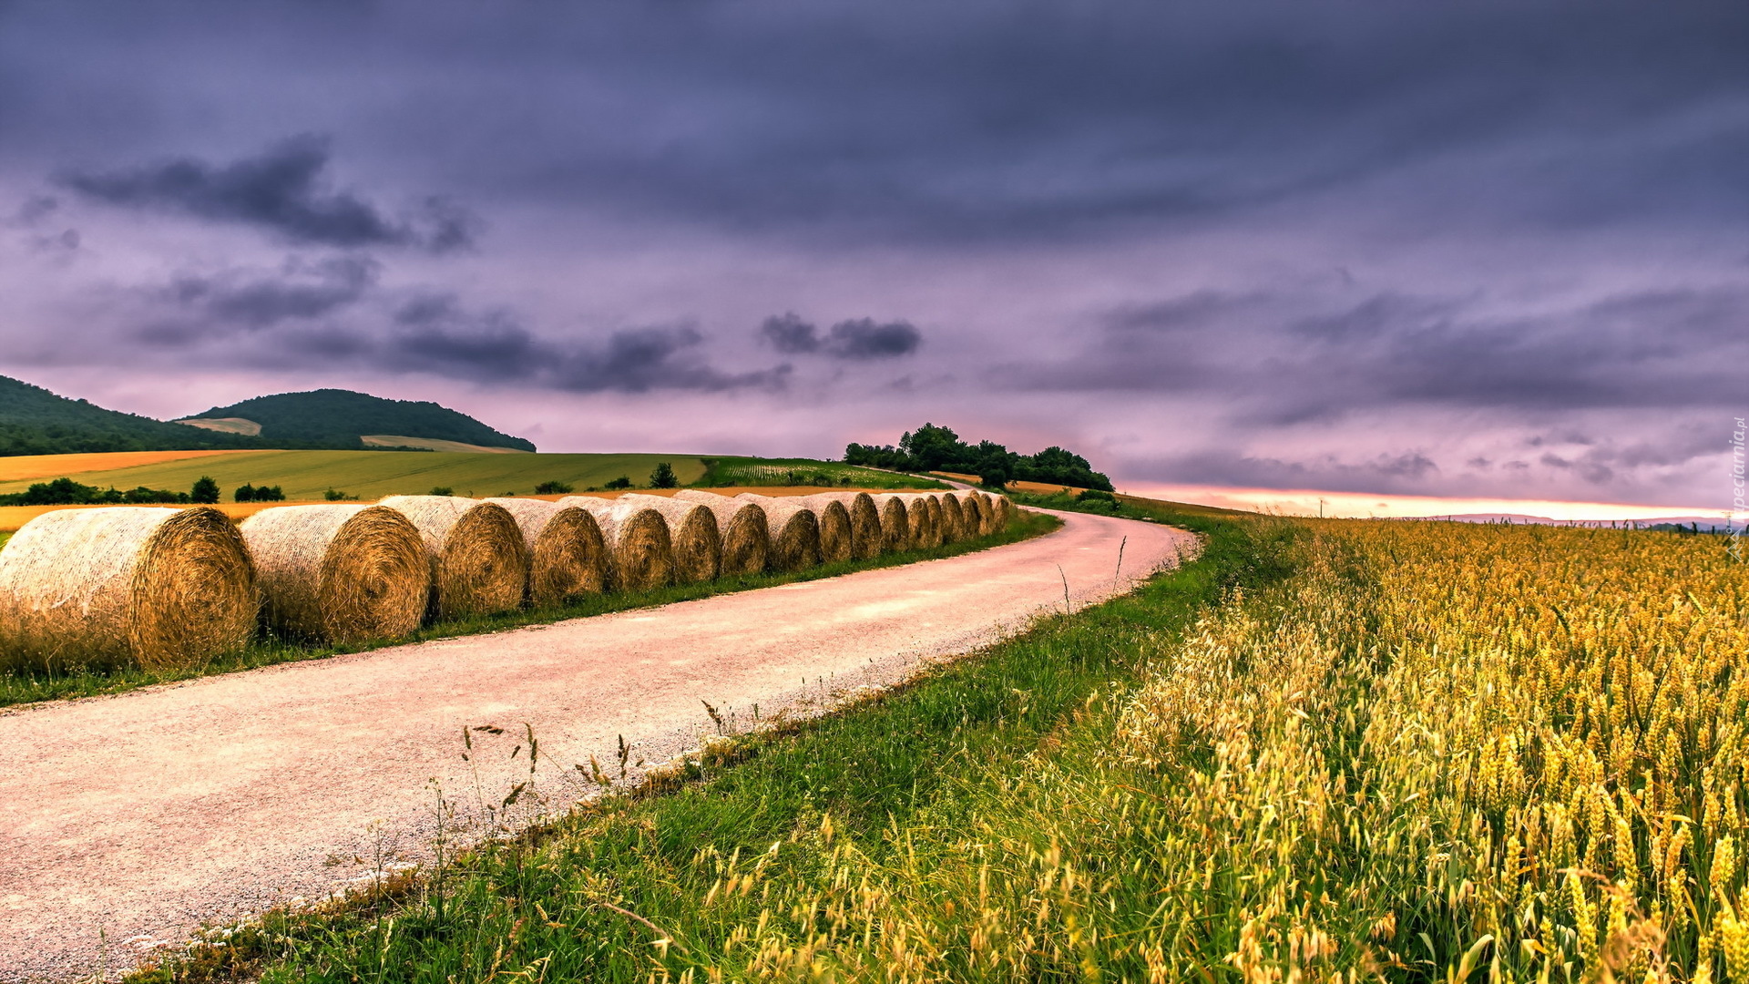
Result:
{"label": "pale curving country road beside the hay bales", "polygon": [[[806,713],[1112,594],[1193,538],[1063,515],[997,550],[0,713],[0,980],[128,966],[203,923],[318,898],[530,779],[511,823],[665,762],[754,707]],[[1123,538],[1121,580],[1118,548]],[[1062,574],[1058,574],[1062,569]],[[463,760],[463,728],[474,753]],[[474,826],[477,830],[477,826]]]}

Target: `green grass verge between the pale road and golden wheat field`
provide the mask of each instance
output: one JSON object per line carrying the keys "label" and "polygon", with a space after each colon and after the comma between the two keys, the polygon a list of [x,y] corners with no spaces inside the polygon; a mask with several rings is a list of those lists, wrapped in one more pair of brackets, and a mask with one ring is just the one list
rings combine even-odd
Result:
{"label": "green grass verge between the pale road and golden wheat field", "polygon": [[[1018,772],[1084,753],[1114,699],[1198,611],[1286,573],[1282,538],[1256,524],[1153,515],[1200,529],[1207,546],[1133,595],[1048,618],[843,713],[740,737],[666,788],[609,797],[376,898],[269,914],[140,980],[880,979],[840,959],[883,945],[854,912],[880,872],[1006,823]],[[843,881],[847,865],[862,881]],[[1146,916],[1153,903],[1135,905]],[[939,916],[957,917],[951,903]],[[964,910],[958,921],[971,926]],[[1083,970],[948,979],[1093,979]]]}

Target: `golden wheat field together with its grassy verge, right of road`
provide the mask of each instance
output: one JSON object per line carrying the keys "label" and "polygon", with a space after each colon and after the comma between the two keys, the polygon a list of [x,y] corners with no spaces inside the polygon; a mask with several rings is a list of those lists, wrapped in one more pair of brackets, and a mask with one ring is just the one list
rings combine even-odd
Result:
{"label": "golden wheat field together with its grassy verge, right of road", "polygon": [[210,966],[1749,979],[1749,566],[1723,543],[1123,506],[1202,531],[1203,555],[854,711],[707,746],[673,795],[269,917]]}

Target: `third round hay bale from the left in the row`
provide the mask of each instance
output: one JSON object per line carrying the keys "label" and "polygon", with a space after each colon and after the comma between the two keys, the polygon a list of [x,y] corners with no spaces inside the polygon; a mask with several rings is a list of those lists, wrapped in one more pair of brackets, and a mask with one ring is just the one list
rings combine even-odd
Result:
{"label": "third round hay bale from the left in the row", "polygon": [[528,594],[528,545],[504,506],[460,496],[390,496],[380,504],[418,527],[432,567],[430,609],[437,618],[521,608]]}

